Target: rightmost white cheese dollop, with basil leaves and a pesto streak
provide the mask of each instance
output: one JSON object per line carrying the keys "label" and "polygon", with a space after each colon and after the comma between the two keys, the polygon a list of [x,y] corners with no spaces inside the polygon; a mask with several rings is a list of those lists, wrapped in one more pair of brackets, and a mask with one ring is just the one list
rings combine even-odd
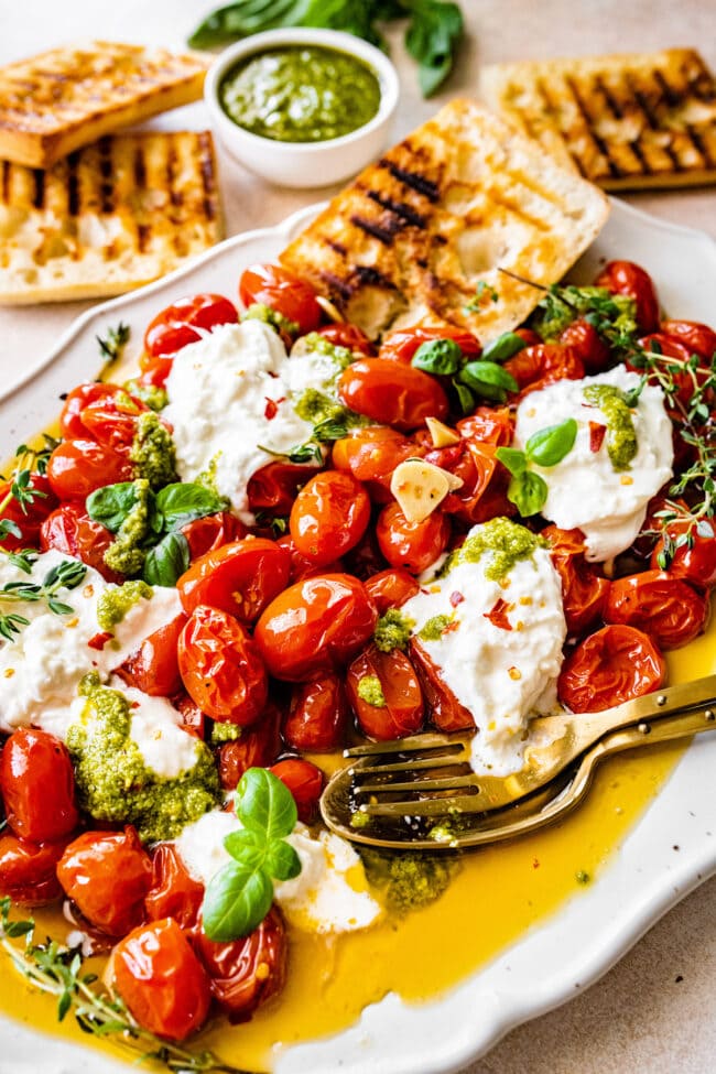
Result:
{"label": "rightmost white cheese dollop, with basil leaves and a pesto streak", "polygon": [[547,485],[542,514],[563,530],[578,528],[586,538],[587,558],[601,562],[628,549],[641,529],[647,505],[672,473],[671,422],[660,388],[644,386],[631,414],[638,451],[628,470],[617,471],[606,437],[592,451],[589,422],[606,424],[601,411],[584,398],[589,384],[614,384],[623,391],[640,377],[623,366],[584,380],[560,380],[530,392],[517,411],[514,447],[524,449],[530,436],[568,417],[577,422],[572,451],[556,466],[532,466]]}

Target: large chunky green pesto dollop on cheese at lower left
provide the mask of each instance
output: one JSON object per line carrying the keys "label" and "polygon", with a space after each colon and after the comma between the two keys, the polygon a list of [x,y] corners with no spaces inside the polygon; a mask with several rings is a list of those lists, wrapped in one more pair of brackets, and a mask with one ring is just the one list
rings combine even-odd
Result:
{"label": "large chunky green pesto dollop on cheese at lower left", "polygon": [[87,698],[78,723],[67,729],[82,809],[96,821],[133,824],[142,842],[173,839],[182,828],[220,801],[219,779],[210,750],[196,740],[196,763],[176,779],[148,768],[130,738],[131,709],[116,690],[85,675],[79,693]]}

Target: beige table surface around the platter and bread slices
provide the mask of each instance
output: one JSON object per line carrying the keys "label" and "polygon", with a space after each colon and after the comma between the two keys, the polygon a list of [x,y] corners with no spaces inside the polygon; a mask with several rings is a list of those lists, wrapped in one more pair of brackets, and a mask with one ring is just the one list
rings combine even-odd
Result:
{"label": "beige table surface around the platter and bread slices", "polygon": [[[463,0],[468,28],[445,90],[424,101],[393,36],[402,83],[395,135],[469,94],[480,64],[670,45],[701,48],[716,67],[715,0]],[[91,36],[181,46],[210,3],[195,0],[0,0],[0,63]],[[202,105],[166,126],[200,127]],[[275,224],[332,188],[270,188],[221,159],[227,235]],[[629,195],[663,219],[716,236],[716,191]],[[716,306],[716,283],[714,286]],[[90,303],[0,310],[0,373],[43,355]],[[716,313],[716,310],[715,310]],[[716,318],[713,318],[716,319]],[[512,1031],[465,1074],[707,1074],[716,1070],[716,879],[672,910],[597,985]]]}

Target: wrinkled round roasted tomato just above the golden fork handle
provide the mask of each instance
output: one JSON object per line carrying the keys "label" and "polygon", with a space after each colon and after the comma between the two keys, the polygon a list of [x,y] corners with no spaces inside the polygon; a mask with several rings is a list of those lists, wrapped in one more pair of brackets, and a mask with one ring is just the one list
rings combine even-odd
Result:
{"label": "wrinkled round roasted tomato just above the golden fork handle", "polygon": [[666,662],[634,627],[615,625],[589,634],[569,653],[557,681],[560,701],[573,713],[600,713],[663,685]]}

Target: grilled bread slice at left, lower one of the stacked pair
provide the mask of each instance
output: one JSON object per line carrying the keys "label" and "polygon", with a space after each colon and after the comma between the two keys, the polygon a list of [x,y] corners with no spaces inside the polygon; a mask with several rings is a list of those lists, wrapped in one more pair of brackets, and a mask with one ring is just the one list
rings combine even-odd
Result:
{"label": "grilled bread slice at left, lower one of the stacked pair", "polygon": [[109,134],[47,171],[0,161],[0,304],[120,294],[220,232],[208,131]]}

